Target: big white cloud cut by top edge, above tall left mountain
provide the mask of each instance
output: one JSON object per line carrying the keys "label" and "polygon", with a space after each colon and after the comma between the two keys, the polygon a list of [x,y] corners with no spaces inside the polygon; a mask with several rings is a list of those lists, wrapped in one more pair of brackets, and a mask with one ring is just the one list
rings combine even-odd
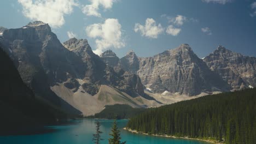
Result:
{"label": "big white cloud cut by top edge, above tall left mountain", "polygon": [[76,0],[18,0],[23,14],[31,20],[49,23],[52,27],[61,27],[65,23],[64,15],[71,14]]}

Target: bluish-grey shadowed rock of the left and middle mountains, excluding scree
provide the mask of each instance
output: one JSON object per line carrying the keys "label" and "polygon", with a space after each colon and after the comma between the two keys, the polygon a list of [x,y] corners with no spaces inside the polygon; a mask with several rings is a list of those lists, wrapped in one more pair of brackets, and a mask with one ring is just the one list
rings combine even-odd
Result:
{"label": "bluish-grey shadowed rock of the left and middle mountains, excluding scree", "polygon": [[101,85],[110,85],[130,92],[132,97],[144,94],[138,76],[122,70],[116,73],[92,52],[86,39],[73,38],[61,44],[49,25],[40,21],[4,29],[1,34],[0,45],[13,59],[26,85],[38,97],[66,112],[80,113],[50,87],[63,85],[77,92],[82,86],[83,92],[95,95]]}

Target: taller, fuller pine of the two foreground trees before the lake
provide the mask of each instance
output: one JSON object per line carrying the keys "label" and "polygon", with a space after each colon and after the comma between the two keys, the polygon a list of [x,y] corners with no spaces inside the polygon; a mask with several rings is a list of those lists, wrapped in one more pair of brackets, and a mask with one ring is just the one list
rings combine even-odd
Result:
{"label": "taller, fuller pine of the two foreground trees before the lake", "polygon": [[111,138],[108,139],[108,143],[109,144],[125,144],[125,142],[121,142],[121,136],[120,136],[120,131],[118,130],[117,127],[117,119],[114,119],[114,124],[113,127],[111,129],[111,134],[109,134],[110,136],[112,136]]}

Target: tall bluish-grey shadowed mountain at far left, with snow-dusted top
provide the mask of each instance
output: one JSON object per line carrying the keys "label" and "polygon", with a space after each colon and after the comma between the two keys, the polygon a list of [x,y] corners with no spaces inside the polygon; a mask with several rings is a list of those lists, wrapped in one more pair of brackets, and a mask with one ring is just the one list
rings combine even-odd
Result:
{"label": "tall bluish-grey shadowed mountain at far left, with snow-dusted top", "polygon": [[[70,75],[81,76],[75,69],[83,62],[62,46],[48,24],[37,21],[22,28],[5,29],[0,43],[13,59],[22,80],[38,98],[68,113],[80,113],[50,89]],[[71,58],[75,60],[69,61]]]}

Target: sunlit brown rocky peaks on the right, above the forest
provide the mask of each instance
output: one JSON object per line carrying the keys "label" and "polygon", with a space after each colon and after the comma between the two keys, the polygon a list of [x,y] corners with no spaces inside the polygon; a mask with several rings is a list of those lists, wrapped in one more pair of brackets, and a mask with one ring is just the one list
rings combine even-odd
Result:
{"label": "sunlit brown rocky peaks on the right, above the forest", "polygon": [[188,44],[164,51],[153,57],[138,57],[128,52],[118,58],[111,51],[105,63],[112,67],[138,74],[149,91],[154,93],[200,93],[224,92],[255,87],[255,57],[243,56],[219,46],[209,56],[198,58]]}

